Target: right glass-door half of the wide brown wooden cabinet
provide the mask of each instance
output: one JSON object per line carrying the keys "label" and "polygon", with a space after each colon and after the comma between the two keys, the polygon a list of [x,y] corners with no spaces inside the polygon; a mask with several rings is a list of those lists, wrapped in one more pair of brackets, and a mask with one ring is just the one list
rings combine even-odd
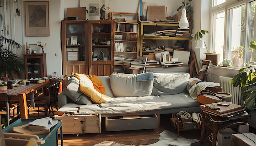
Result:
{"label": "right glass-door half of the wide brown wooden cabinet", "polygon": [[90,75],[110,76],[114,72],[114,21],[88,21]]}

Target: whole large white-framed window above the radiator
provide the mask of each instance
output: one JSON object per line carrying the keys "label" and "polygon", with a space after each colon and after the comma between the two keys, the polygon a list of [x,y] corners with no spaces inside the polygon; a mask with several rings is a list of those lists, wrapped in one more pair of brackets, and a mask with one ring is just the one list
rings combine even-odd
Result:
{"label": "whole large white-framed window above the radiator", "polygon": [[249,48],[249,42],[256,39],[255,4],[255,0],[212,0],[211,48],[220,54],[220,63],[224,58],[231,59],[233,66],[256,62],[256,51]]}

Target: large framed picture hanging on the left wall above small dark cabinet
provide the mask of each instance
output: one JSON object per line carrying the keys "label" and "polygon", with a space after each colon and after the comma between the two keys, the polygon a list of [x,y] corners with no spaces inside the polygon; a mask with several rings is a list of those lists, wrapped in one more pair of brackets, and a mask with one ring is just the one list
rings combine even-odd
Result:
{"label": "large framed picture hanging on the left wall above small dark cabinet", "polygon": [[49,36],[49,2],[25,1],[26,36]]}

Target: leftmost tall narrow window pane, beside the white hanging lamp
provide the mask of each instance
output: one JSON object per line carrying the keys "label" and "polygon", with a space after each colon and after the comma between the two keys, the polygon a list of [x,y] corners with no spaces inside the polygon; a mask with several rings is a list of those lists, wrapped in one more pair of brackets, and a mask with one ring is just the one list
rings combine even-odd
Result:
{"label": "leftmost tall narrow window pane, beside the white hanging lamp", "polygon": [[223,45],[224,45],[224,29],[225,29],[225,12],[213,15],[213,51],[220,54],[220,62],[223,61]]}

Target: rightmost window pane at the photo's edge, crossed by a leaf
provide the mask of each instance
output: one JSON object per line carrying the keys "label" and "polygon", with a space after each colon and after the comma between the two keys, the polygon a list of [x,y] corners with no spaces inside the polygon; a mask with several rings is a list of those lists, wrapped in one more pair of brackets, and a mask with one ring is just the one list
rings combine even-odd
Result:
{"label": "rightmost window pane at the photo's edge, crossed by a leaf", "polygon": [[[250,21],[249,21],[249,32],[248,32],[248,44],[249,44],[249,42],[251,42],[251,41],[256,41],[256,33],[254,33],[254,32],[256,32],[256,28],[254,28],[254,22],[255,22],[255,19],[254,19],[254,17],[255,17],[255,4],[256,4],[256,2],[255,1],[253,1],[253,2],[250,2]],[[253,50],[253,49],[251,49],[251,48],[249,48],[248,49],[248,55],[247,55],[247,63],[249,63],[249,62],[256,62],[256,51],[255,51],[255,49]]]}

